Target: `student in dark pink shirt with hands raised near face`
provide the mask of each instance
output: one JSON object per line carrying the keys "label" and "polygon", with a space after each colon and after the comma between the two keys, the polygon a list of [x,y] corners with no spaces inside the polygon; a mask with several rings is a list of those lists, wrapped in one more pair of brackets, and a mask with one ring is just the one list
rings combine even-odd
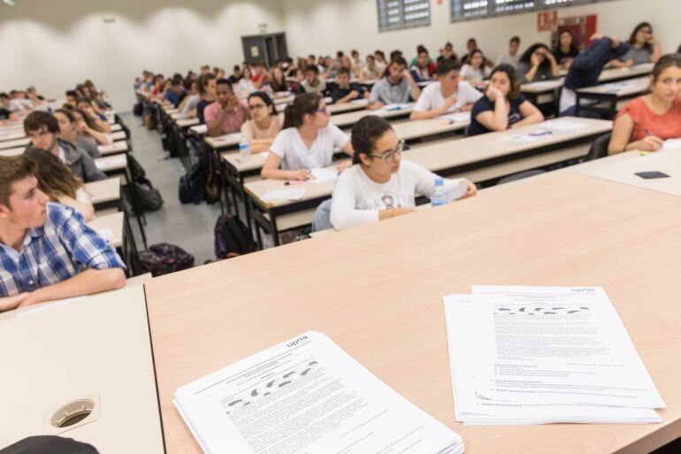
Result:
{"label": "student in dark pink shirt with hands raised near face", "polygon": [[250,119],[250,113],[246,106],[241,104],[238,97],[232,92],[232,85],[226,79],[219,79],[216,93],[218,100],[206,107],[203,116],[208,127],[208,135],[233,134],[241,131],[241,125]]}

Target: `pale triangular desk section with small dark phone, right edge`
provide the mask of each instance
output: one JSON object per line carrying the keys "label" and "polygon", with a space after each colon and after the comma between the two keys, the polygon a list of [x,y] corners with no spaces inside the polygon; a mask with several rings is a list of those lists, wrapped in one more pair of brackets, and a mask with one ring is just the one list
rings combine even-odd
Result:
{"label": "pale triangular desk section with small dark phone, right edge", "polygon": [[[669,178],[646,180],[635,173],[657,171]],[[658,151],[646,156],[631,158],[615,164],[600,165],[581,173],[617,183],[681,196],[681,150]]]}

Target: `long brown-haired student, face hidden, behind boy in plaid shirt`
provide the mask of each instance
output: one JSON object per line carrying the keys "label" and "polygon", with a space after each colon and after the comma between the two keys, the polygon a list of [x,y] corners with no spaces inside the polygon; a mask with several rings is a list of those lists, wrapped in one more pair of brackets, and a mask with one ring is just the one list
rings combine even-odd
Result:
{"label": "long brown-haired student, face hidden, behind boy in plaid shirt", "polygon": [[49,196],[51,202],[70,206],[80,213],[85,222],[95,218],[95,207],[83,181],[73,175],[59,158],[38,148],[27,150],[24,156],[35,163],[38,189]]}

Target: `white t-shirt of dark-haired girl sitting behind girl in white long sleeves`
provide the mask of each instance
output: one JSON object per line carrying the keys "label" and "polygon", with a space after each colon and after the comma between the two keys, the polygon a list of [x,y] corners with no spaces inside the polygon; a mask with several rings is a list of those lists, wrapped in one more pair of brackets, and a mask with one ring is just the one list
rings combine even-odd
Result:
{"label": "white t-shirt of dark-haired girl sitting behind girl in white long sleeves", "polygon": [[318,130],[315,142],[308,149],[298,128],[287,127],[274,139],[270,151],[281,158],[282,170],[314,169],[331,165],[333,149],[343,148],[349,140],[339,127],[329,125]]}

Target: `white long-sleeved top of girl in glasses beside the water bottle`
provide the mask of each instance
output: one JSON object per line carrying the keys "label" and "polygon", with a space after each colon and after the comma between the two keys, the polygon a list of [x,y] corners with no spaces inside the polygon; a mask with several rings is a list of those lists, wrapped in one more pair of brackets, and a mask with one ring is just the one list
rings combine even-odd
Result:
{"label": "white long-sleeved top of girl in glasses beside the water bottle", "polygon": [[[353,165],[340,173],[333,189],[331,224],[336,230],[377,222],[379,212],[393,208],[414,208],[416,197],[431,196],[435,191],[435,173],[421,165],[403,160],[390,180],[372,181],[362,167]],[[445,180],[446,187],[461,184],[461,179]]]}

